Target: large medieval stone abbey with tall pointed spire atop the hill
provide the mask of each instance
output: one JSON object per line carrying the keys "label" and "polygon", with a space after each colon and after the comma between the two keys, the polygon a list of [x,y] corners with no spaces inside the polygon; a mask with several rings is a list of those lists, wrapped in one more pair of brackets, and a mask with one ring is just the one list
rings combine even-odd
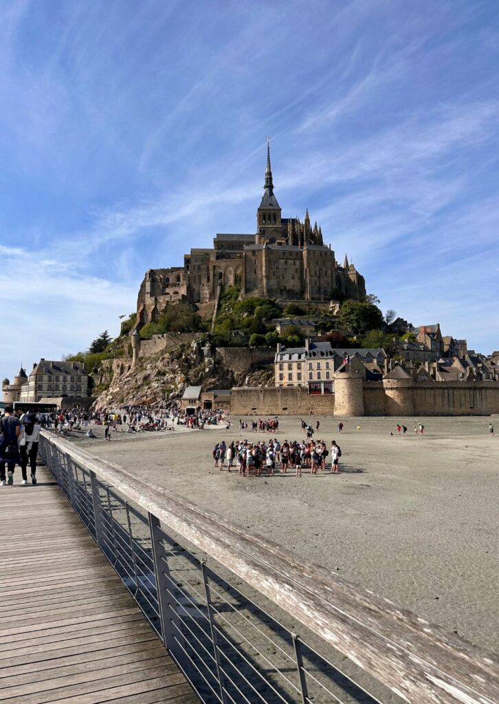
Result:
{"label": "large medieval stone abbey with tall pointed spire atop the hill", "polygon": [[336,262],[331,246],[324,245],[321,227],[317,222],[311,225],[308,210],[303,222],[282,217],[268,144],[256,225],[255,234],[217,234],[213,247],[184,255],[183,267],[146,272],[137,301],[138,325],[156,320],[166,303],[177,301],[195,303],[208,313],[228,285],[240,286],[241,298],[329,303],[334,298],[365,296],[364,277],[346,257],[343,266]]}

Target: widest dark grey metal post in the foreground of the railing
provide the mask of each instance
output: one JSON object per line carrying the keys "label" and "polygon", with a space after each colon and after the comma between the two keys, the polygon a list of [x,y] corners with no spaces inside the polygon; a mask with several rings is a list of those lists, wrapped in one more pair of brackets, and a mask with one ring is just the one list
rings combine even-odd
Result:
{"label": "widest dark grey metal post in the foreground of the railing", "polygon": [[[161,619],[161,638],[165,648],[177,660],[184,672],[189,672],[190,667],[185,653],[181,647],[176,646],[182,638],[182,622],[177,612],[175,597],[172,595],[173,585],[168,583],[170,572],[168,561],[161,537],[161,528],[158,518],[148,512],[149,530],[151,531],[151,544],[153,548],[154,575],[156,577],[156,591],[158,593],[158,605]],[[170,578],[171,579],[171,578]],[[175,625],[174,625],[175,624]],[[177,631],[177,633],[175,633]]]}

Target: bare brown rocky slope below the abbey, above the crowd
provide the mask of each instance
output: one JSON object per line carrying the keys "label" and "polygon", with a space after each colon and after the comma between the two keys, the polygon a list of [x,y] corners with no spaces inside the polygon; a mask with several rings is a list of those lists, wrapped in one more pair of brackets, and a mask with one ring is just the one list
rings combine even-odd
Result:
{"label": "bare brown rocky slope below the abbey, above the crowd", "polygon": [[109,388],[97,397],[96,406],[151,403],[163,399],[175,401],[182,397],[187,386],[230,389],[243,384],[273,384],[273,367],[262,365],[260,369],[234,372],[219,357],[213,346],[202,346],[200,340],[184,342],[173,349],[140,357],[134,370],[113,375]]}

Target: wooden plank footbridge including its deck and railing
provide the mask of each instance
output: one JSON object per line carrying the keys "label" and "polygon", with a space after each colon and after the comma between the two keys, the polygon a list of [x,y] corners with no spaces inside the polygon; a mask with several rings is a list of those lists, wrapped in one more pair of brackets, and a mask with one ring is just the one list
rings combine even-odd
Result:
{"label": "wooden plank footbridge including its deck and railing", "polygon": [[493,655],[42,432],[0,494],[0,703],[497,704]]}

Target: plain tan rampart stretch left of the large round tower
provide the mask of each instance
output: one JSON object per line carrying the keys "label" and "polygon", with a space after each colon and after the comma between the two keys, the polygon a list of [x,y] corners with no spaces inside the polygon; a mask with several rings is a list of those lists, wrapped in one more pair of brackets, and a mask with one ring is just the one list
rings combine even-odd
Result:
{"label": "plain tan rampart stretch left of the large round tower", "polygon": [[309,396],[300,386],[232,389],[231,415],[333,415],[334,394]]}

